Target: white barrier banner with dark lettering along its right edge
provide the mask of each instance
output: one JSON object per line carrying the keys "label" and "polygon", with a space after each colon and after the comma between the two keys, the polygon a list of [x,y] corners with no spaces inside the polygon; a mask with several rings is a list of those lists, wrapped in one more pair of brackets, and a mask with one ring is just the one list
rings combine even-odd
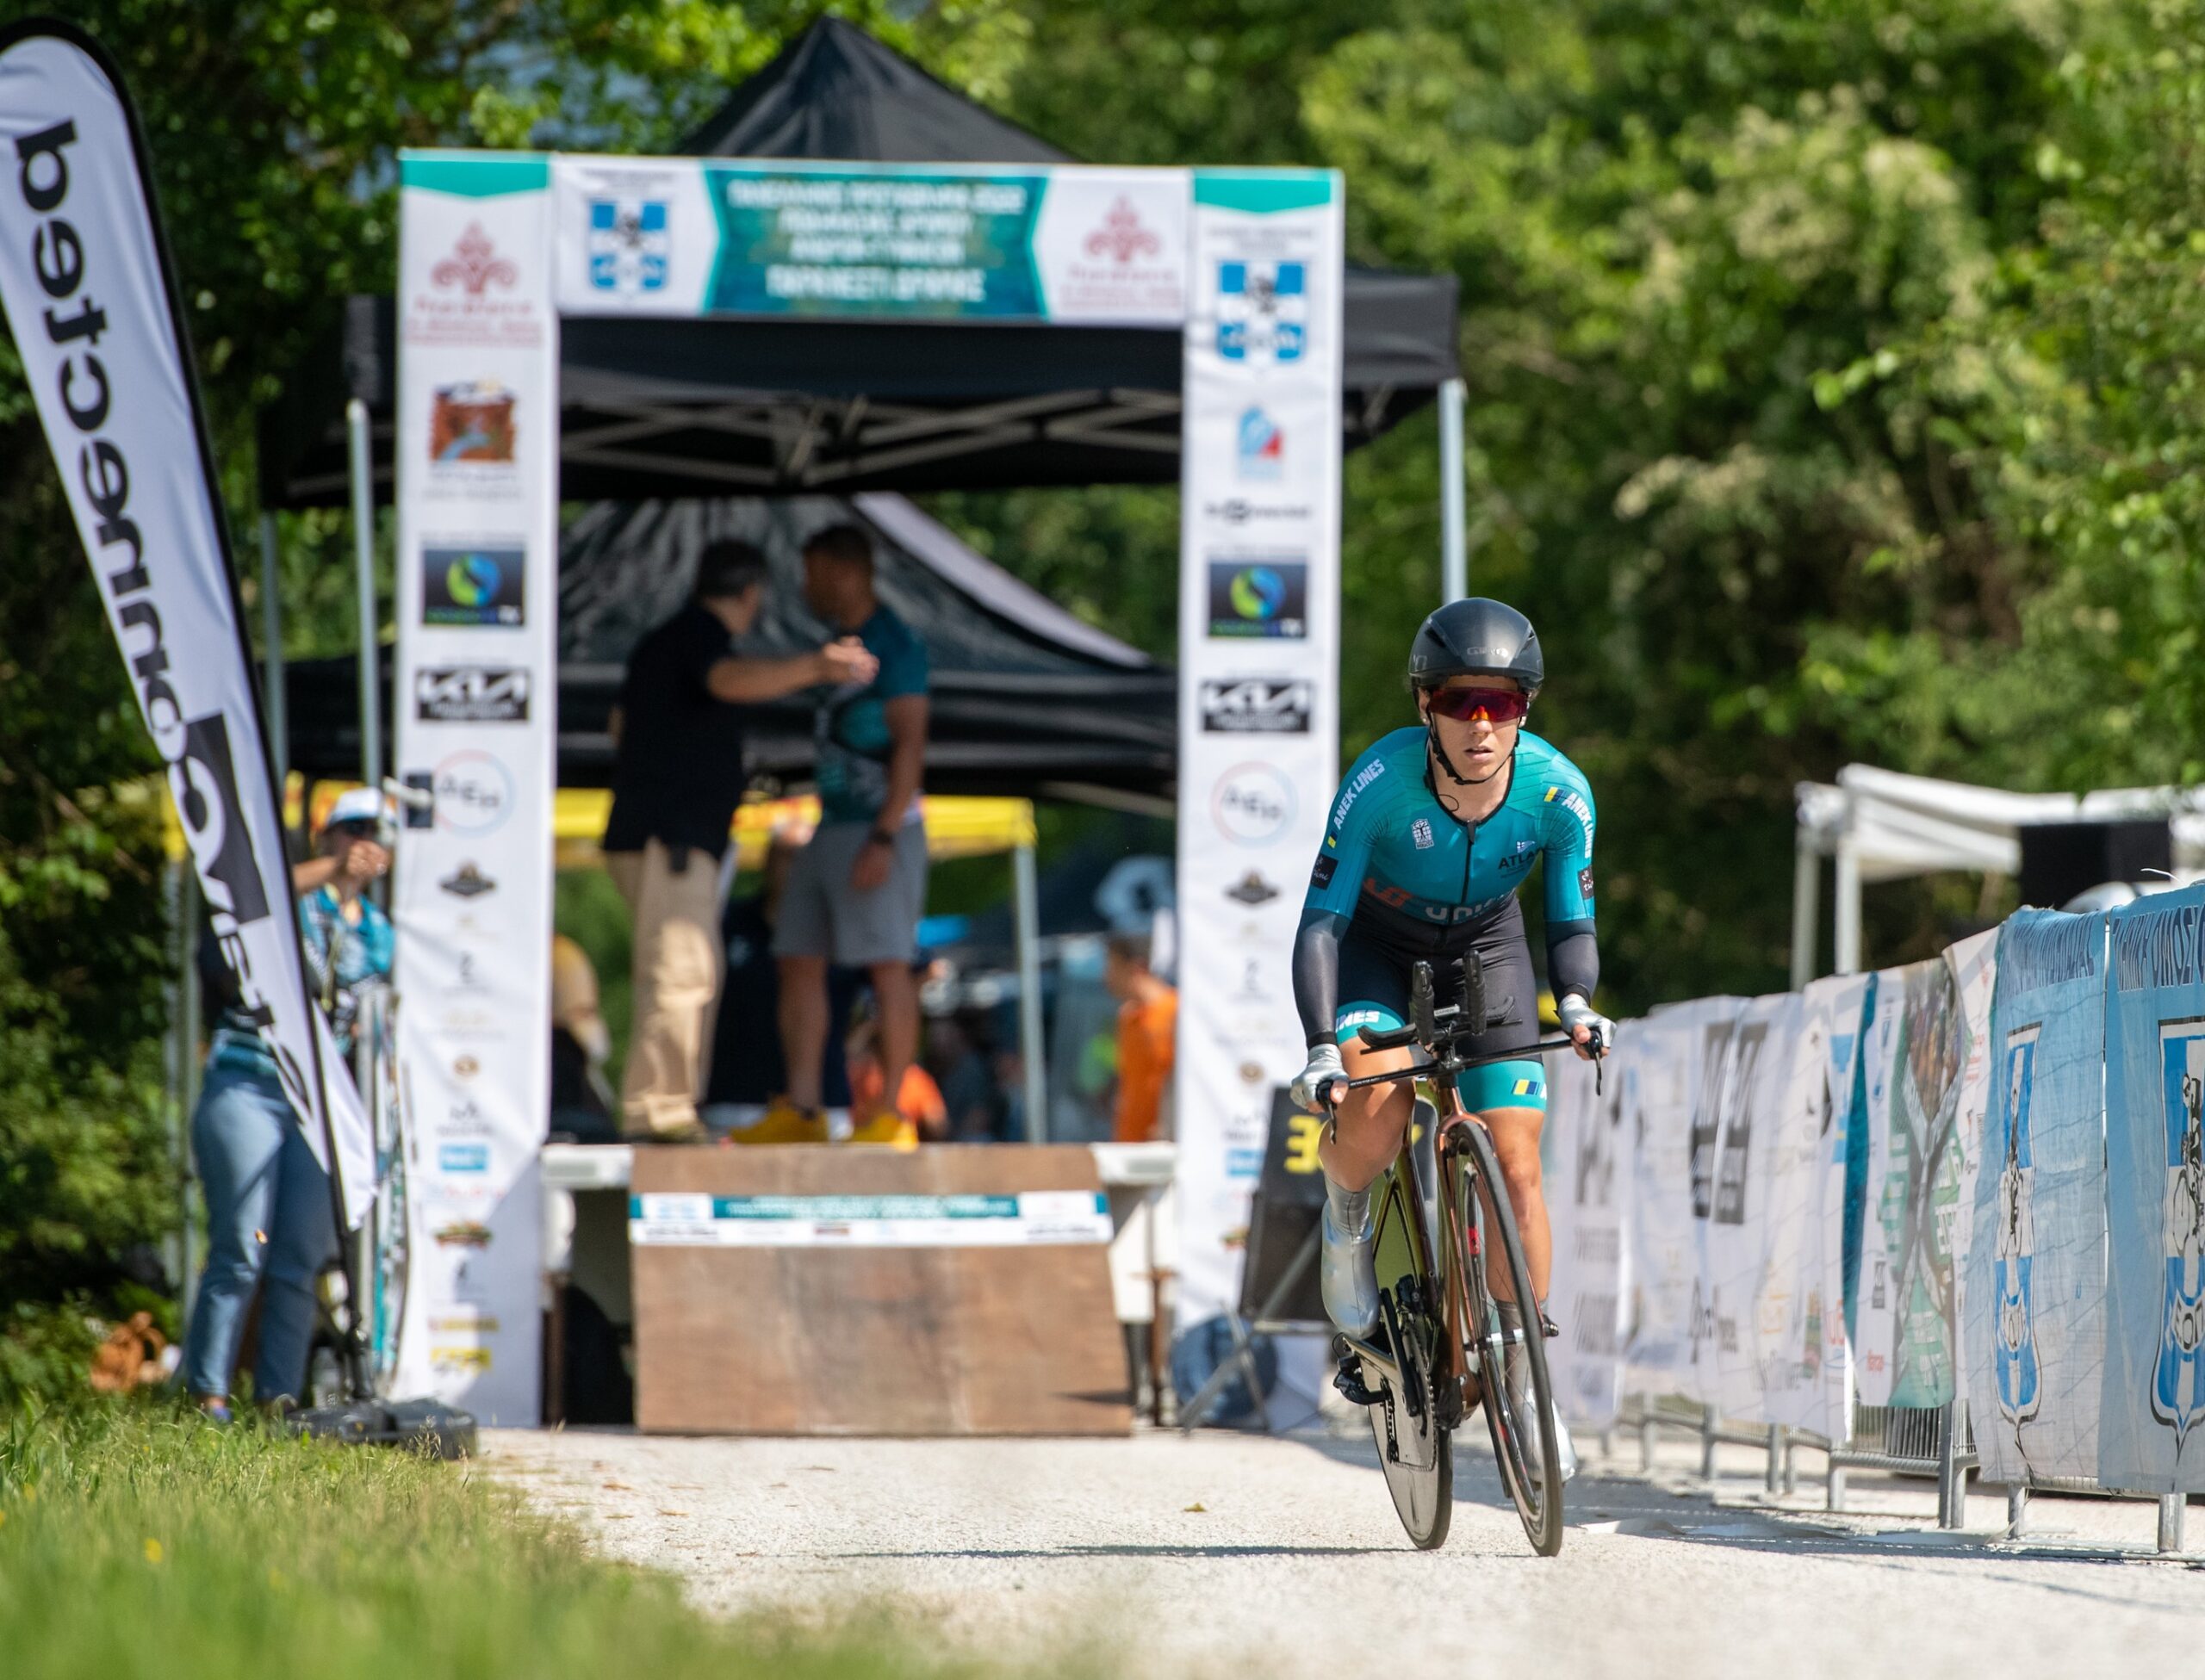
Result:
{"label": "white barrier banner with dark lettering along its right edge", "polygon": [[1696,999],[1656,1010],[1629,1032],[1638,1080],[1625,1087],[1632,1307],[1623,1382],[1634,1393],[1713,1400],[1713,1371],[1709,1367],[1709,1382],[1702,1385],[1698,1358],[1709,1310],[1704,1226],[1696,1206],[1713,1195],[1713,1105],[1731,1030],[1744,1005],[1738,997]]}

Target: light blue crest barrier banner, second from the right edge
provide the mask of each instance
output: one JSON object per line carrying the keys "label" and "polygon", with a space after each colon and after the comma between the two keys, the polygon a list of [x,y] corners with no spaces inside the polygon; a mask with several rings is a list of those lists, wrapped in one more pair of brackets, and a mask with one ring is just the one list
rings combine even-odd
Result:
{"label": "light blue crest barrier banner, second from the right edge", "polygon": [[2106,919],[1998,930],[1991,1089],[1960,1268],[1987,1482],[2097,1477],[2106,1365]]}

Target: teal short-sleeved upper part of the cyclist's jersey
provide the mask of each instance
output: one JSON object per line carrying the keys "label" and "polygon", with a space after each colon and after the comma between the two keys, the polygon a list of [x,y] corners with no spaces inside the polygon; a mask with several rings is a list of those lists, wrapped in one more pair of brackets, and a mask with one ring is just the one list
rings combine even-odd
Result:
{"label": "teal short-sleeved upper part of the cyclist's jersey", "polygon": [[1438,935],[1488,919],[1546,860],[1546,937],[1592,928],[1592,789],[1552,745],[1524,730],[1508,796],[1484,822],[1449,816],[1424,778],[1424,730],[1383,736],[1356,758],[1332,800],[1305,911],[1358,930]]}

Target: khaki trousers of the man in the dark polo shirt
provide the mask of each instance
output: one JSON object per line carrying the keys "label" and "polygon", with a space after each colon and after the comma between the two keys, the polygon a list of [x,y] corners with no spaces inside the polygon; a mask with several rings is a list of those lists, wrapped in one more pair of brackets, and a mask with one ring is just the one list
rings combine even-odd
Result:
{"label": "khaki trousers of the man in the dark polo shirt", "polygon": [[719,860],[688,849],[679,875],[666,844],[609,851],[604,869],[635,917],[635,1012],[620,1083],[628,1138],[692,1138],[712,1054],[728,952],[719,937]]}

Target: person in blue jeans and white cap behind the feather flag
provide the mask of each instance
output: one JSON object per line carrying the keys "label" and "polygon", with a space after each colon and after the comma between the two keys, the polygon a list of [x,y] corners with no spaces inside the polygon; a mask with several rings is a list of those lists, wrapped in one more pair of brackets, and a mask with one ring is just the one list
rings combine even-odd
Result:
{"label": "person in blue jeans and white cap behind the feather flag", "polygon": [[[300,897],[306,977],[351,1054],[359,990],[390,972],[390,919],[359,893],[390,866],[377,842],[381,796],[342,794],[322,825],[320,855],[291,873]],[[212,961],[209,961],[212,955]],[[329,1175],[291,1113],[276,1058],[234,1001],[234,979],[201,946],[207,994],[225,999],[192,1109],[192,1160],[207,1202],[207,1268],[183,1340],[183,1385],[207,1415],[229,1420],[229,1371],[260,1290],[254,1398],[295,1402],[306,1389],[313,1285],[337,1252]]]}

